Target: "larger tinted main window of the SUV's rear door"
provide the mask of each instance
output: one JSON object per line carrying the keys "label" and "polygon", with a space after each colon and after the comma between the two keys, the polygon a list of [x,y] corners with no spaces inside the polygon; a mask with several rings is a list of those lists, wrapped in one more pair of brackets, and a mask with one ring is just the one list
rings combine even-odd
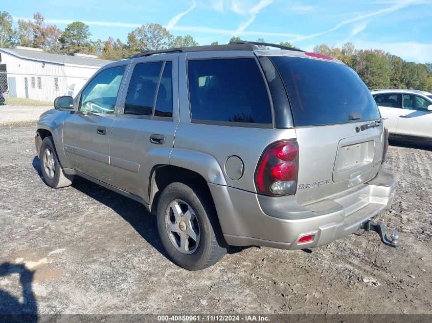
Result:
{"label": "larger tinted main window of the SUV's rear door", "polygon": [[135,65],[127,90],[125,114],[152,115],[157,82],[164,62]]}

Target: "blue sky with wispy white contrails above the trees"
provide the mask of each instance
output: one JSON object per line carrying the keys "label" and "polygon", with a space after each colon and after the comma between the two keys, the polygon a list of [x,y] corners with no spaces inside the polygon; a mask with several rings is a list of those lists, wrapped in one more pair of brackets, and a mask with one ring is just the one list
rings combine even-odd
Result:
{"label": "blue sky with wispy white contrails above the trees", "polygon": [[[37,4],[36,4],[37,3]],[[21,0],[2,5],[15,19],[39,11],[61,29],[87,23],[92,39],[127,34],[148,22],[174,35],[192,35],[201,45],[226,43],[231,36],[267,42],[379,48],[416,62],[432,61],[432,0]]]}

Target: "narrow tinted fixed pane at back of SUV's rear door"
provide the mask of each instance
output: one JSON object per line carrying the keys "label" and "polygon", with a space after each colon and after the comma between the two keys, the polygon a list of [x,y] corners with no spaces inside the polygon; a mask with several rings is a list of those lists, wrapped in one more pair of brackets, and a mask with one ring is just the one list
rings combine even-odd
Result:
{"label": "narrow tinted fixed pane at back of SUV's rear door", "polygon": [[154,115],[157,117],[172,117],[172,63],[166,62],[161,83],[157,90]]}

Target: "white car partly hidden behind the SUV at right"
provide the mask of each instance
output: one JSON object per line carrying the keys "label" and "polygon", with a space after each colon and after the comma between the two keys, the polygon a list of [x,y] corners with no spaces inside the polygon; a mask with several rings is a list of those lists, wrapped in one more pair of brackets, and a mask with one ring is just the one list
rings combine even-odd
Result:
{"label": "white car partly hidden behind the SUV at right", "polygon": [[384,126],[394,139],[432,141],[432,93],[419,90],[371,90]]}

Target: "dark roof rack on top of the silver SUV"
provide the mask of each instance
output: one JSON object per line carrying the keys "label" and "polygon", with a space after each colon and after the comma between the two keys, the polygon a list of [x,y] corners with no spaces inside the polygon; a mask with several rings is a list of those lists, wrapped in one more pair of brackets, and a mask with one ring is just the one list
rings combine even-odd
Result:
{"label": "dark roof rack on top of the silver SUV", "polygon": [[146,56],[151,56],[156,54],[204,52],[204,51],[256,51],[258,49],[257,45],[288,49],[289,51],[304,52],[301,49],[278,45],[278,44],[240,40],[240,41],[232,41],[228,45],[204,45],[204,46],[178,47],[178,48],[161,49],[158,51],[154,51],[153,49],[146,49],[145,51],[139,54],[133,55],[131,58],[146,57]]}

